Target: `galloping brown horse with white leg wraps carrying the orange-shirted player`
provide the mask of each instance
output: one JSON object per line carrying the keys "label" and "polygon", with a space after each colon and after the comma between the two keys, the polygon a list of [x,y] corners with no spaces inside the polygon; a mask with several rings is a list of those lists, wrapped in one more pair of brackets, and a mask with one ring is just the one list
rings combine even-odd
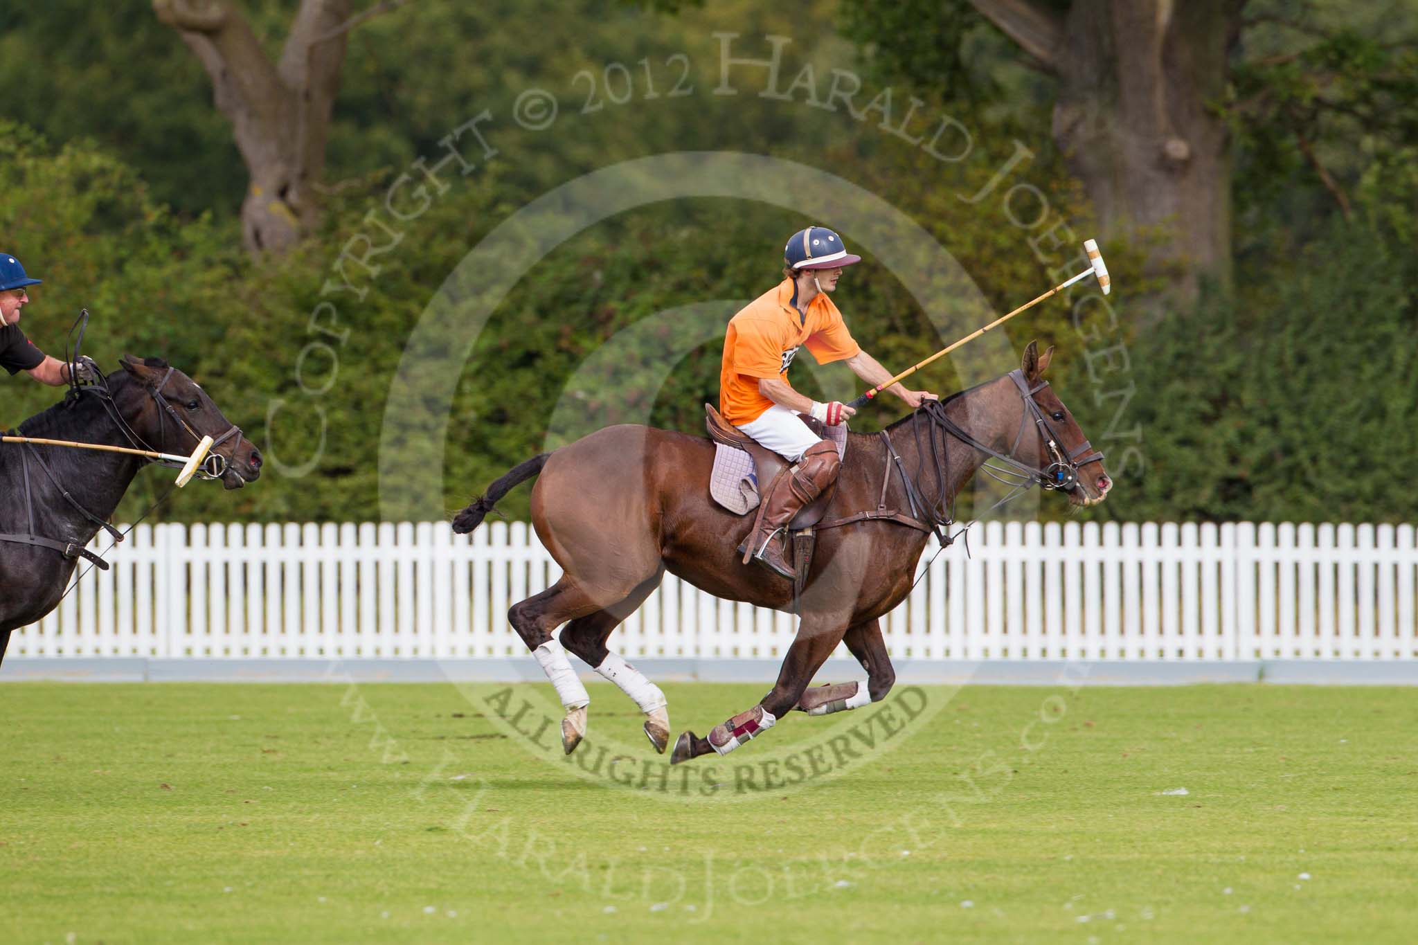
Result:
{"label": "galloping brown horse with white leg wraps carrying the orange-shirted player", "polygon": [[[993,462],[991,469],[1024,487],[1038,483],[1066,492],[1075,506],[1103,500],[1112,483],[1102,453],[1092,451],[1041,380],[1051,356],[1052,349],[1041,356],[1031,341],[1018,371],[927,402],[883,434],[849,435],[828,520],[817,527],[808,582],[795,602],[798,632],[777,684],[708,738],[682,734],[674,762],[726,754],[793,708],[827,714],[885,698],[895,672],[878,621],[910,592],[927,534],[950,521],[954,497],[983,463]],[[512,486],[540,473],[532,521],[564,574],[513,605],[508,619],[567,708],[562,724],[567,752],[584,734],[588,697],[562,645],[640,704],[649,717],[647,735],[665,749],[664,696],[605,640],[666,570],[720,598],[780,611],[794,606],[788,581],[742,564],[735,551],[752,516],[735,516],[709,499],[713,459],[715,445],[698,436],[608,426],[516,466],[452,521],[454,531],[471,531]],[[557,645],[552,632],[562,623],[567,626]],[[856,683],[810,690],[839,642],[866,670],[866,691]]]}

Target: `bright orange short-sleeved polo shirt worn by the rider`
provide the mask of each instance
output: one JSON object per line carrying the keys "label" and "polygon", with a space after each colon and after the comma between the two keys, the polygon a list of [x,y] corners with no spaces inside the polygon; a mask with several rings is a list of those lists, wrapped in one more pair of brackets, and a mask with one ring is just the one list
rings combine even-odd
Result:
{"label": "bright orange short-sleeved polo shirt worn by the rider", "polygon": [[730,424],[753,422],[773,407],[759,392],[759,380],[776,377],[787,384],[788,364],[798,347],[807,346],[818,364],[841,361],[862,350],[825,292],[808,303],[805,317],[793,306],[793,281],[784,279],[729,320],[719,370],[719,412]]}

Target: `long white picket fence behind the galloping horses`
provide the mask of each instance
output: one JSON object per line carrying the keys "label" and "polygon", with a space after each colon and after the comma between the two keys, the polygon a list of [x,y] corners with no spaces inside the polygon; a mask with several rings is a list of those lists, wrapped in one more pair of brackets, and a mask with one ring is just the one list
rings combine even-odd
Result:
{"label": "long white picket fence behind the galloping horses", "polygon": [[[934,544],[922,558],[922,567]],[[1412,526],[988,523],[882,621],[895,657],[1418,657]],[[11,656],[505,657],[560,570],[523,523],[139,526]],[[794,619],[666,577],[625,656],[770,657]]]}

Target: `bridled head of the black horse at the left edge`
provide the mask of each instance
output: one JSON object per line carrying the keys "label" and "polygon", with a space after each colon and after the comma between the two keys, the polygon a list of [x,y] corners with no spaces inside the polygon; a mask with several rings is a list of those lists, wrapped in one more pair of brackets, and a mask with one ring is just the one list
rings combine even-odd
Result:
{"label": "bridled head of the black horse at the left edge", "polygon": [[125,404],[123,419],[152,449],[190,453],[203,436],[211,436],[211,455],[224,460],[223,486],[240,489],[261,475],[261,452],[194,380],[156,357],[125,354],[121,364],[143,390]]}

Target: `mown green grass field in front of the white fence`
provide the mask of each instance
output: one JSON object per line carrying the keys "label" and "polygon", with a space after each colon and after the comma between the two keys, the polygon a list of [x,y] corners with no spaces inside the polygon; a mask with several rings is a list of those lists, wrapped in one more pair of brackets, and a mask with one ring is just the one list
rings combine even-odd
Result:
{"label": "mown green grass field in front of the white fence", "polygon": [[529,749],[547,690],[0,687],[0,941],[1418,936],[1409,690],[898,687],[668,781],[605,686],[596,774]]}

